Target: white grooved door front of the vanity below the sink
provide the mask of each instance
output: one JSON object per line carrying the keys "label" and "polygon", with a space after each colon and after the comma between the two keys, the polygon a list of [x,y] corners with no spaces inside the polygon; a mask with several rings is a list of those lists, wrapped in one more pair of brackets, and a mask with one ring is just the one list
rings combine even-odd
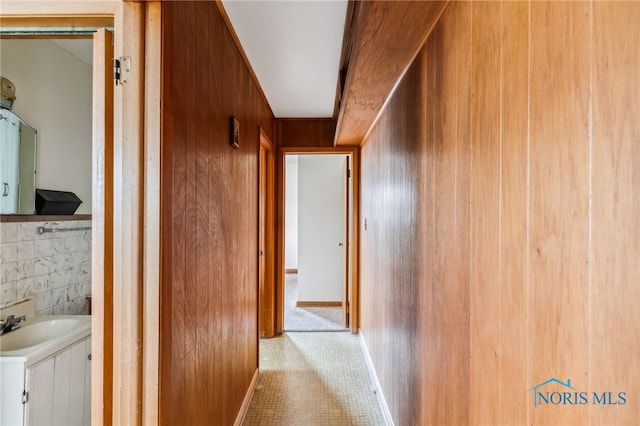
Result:
{"label": "white grooved door front of the vanity below the sink", "polygon": [[91,424],[91,338],[25,369],[25,425]]}

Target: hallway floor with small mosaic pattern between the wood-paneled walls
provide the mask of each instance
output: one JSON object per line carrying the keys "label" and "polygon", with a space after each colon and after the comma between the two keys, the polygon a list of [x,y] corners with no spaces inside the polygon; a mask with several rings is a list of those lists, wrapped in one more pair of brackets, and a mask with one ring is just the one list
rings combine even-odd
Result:
{"label": "hallway floor with small mosaic pattern between the wood-paneled walls", "polygon": [[245,426],[384,425],[358,336],[260,340],[260,381]]}

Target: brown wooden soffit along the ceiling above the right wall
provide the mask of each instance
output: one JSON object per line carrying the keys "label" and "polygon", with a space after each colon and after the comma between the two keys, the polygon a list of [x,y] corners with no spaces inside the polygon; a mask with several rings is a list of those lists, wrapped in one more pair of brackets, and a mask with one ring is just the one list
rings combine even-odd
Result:
{"label": "brown wooden soffit along the ceiling above the right wall", "polygon": [[358,2],[336,146],[363,143],[448,3]]}

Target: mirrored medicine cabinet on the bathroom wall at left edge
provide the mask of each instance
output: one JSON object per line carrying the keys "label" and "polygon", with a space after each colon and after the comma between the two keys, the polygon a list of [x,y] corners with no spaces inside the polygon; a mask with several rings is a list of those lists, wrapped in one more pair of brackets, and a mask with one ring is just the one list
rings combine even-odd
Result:
{"label": "mirrored medicine cabinet on the bathroom wall at left edge", "polygon": [[0,214],[34,214],[37,131],[0,109]]}

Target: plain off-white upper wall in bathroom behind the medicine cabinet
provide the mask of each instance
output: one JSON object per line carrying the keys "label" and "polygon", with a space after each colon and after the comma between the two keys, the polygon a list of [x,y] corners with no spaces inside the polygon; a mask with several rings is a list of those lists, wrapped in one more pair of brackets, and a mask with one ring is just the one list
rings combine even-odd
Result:
{"label": "plain off-white upper wall in bathroom behind the medicine cabinet", "polygon": [[0,74],[16,86],[13,112],[38,131],[36,187],[74,192],[76,213],[91,213],[91,65],[51,40],[3,39]]}

